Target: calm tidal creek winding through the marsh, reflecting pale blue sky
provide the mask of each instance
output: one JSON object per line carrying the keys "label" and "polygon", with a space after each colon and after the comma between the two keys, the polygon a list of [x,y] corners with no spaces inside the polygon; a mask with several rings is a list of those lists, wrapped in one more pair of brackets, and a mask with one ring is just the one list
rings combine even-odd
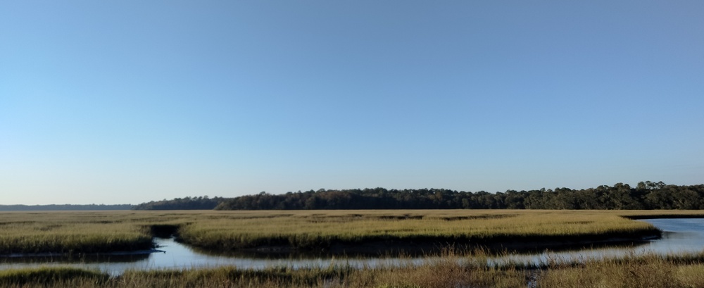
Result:
{"label": "calm tidal creek winding through the marsh, reflecting pale blue sky", "polygon": [[[616,246],[605,248],[581,249],[562,252],[542,252],[530,254],[512,254],[501,258],[489,259],[492,262],[520,261],[522,263],[545,263],[551,259],[584,259],[609,256],[624,256],[639,253],[691,253],[704,250],[704,219],[646,219],[646,221],[662,230],[662,238],[639,243],[634,246]],[[157,251],[137,255],[92,256],[79,259],[65,257],[4,257],[0,258],[0,270],[11,268],[28,268],[38,266],[74,266],[79,268],[98,269],[120,275],[125,270],[162,270],[184,268],[215,268],[220,266],[236,266],[238,268],[261,269],[271,266],[328,267],[329,265],[352,265],[356,267],[374,267],[377,265],[405,265],[432,261],[432,258],[335,258],[320,256],[304,258],[289,257],[246,257],[217,256],[201,253],[173,239],[155,239]]]}

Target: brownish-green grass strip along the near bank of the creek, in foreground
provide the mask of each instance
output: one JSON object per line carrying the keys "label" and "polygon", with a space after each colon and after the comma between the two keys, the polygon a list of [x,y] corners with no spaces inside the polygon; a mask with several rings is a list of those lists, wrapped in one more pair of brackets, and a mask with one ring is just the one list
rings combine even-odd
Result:
{"label": "brownish-green grass strip along the near bank of the creek, in foreground", "polygon": [[[108,277],[91,270],[39,268],[0,273],[2,287],[703,287],[704,255],[627,256],[534,268],[486,265],[484,256],[446,254],[425,263],[351,268],[234,267],[128,271]],[[469,260],[468,260],[469,259]],[[472,260],[474,259],[474,260]]]}

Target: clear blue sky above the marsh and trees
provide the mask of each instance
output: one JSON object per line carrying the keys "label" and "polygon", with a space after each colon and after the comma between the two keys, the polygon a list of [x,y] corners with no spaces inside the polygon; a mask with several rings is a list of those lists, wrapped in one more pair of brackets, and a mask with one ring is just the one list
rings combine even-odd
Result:
{"label": "clear blue sky above the marsh and trees", "polygon": [[3,1],[0,204],[704,183],[704,1]]}

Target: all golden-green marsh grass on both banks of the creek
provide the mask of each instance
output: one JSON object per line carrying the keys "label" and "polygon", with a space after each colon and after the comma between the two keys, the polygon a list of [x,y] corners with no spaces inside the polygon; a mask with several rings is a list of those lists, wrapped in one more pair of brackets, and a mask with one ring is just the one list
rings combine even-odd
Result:
{"label": "all golden-green marsh grass on both banks of the creek", "polygon": [[[704,254],[638,255],[488,265],[492,242],[555,244],[636,239],[659,232],[630,218],[704,217],[704,211],[92,211],[0,213],[0,251],[94,253],[151,248],[151,237],[217,253],[237,249],[336,249],[447,244],[422,263],[353,267],[272,266],[130,270],[118,276],[68,267],[0,271],[2,287],[701,287]],[[145,239],[150,239],[149,242]],[[415,242],[414,242],[415,241]],[[467,249],[452,249],[461,246]],[[477,246],[472,246],[477,244]],[[585,242],[586,244],[586,242]],[[372,249],[380,246],[371,245]],[[510,245],[506,245],[510,248]],[[339,247],[338,247],[339,248]],[[377,250],[378,253],[384,253]],[[508,253],[504,250],[503,253]]]}

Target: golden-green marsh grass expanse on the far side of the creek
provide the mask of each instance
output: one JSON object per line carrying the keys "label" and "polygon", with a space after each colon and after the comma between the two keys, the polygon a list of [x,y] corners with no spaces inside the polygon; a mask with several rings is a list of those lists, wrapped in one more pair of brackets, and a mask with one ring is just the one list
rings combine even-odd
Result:
{"label": "golden-green marsh grass expanse on the far side of the creek", "polygon": [[[698,211],[95,211],[0,213],[0,255],[149,249],[151,237],[223,253],[335,245],[491,244],[636,239],[658,231],[622,216]],[[372,246],[374,248],[374,246]]]}

